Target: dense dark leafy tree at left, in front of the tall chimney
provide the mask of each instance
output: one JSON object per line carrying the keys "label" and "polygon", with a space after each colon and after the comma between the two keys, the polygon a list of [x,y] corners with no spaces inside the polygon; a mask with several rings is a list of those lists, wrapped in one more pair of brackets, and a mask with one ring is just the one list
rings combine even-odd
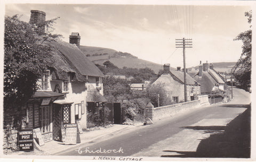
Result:
{"label": "dense dark leafy tree at left, in front of the tall chimney", "polygon": [[[57,19],[57,18],[56,18]],[[54,19],[55,20],[55,19]],[[46,21],[46,29],[54,20]],[[37,80],[46,69],[51,41],[59,35],[38,32],[35,25],[18,15],[5,18],[4,29],[4,108],[21,107],[37,90]]]}

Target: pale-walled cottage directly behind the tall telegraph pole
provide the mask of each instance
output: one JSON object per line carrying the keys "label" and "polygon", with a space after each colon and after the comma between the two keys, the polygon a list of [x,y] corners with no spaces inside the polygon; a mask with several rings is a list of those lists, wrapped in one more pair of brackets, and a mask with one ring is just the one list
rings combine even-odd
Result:
{"label": "pale-walled cottage directly behind the tall telegraph pole", "polygon": [[[201,95],[200,84],[187,74],[187,101],[195,100]],[[167,91],[167,96],[170,97],[173,103],[185,101],[184,97],[184,73],[177,67],[177,71],[170,70],[170,64],[164,64],[163,72],[158,76],[156,83],[163,83],[164,89]]]}

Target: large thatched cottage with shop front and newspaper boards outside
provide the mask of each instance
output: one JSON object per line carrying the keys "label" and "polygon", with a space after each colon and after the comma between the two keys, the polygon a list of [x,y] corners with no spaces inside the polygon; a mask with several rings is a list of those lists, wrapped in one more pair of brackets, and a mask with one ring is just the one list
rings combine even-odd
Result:
{"label": "large thatched cottage with shop front and newspaper boards outside", "polygon": [[[45,21],[45,13],[31,10],[30,23]],[[54,41],[53,64],[38,80],[40,89],[27,104],[26,126],[41,130],[44,142],[61,139],[61,126],[79,121],[86,129],[86,110],[98,110],[107,101],[103,95],[103,73],[79,49],[79,33],[70,43]]]}

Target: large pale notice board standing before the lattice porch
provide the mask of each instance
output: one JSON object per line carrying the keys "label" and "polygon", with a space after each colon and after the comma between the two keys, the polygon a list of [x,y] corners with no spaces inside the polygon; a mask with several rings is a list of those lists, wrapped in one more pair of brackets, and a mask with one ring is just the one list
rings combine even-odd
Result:
{"label": "large pale notice board standing before the lattice porch", "polygon": [[76,144],[77,126],[76,124],[67,124],[65,144]]}

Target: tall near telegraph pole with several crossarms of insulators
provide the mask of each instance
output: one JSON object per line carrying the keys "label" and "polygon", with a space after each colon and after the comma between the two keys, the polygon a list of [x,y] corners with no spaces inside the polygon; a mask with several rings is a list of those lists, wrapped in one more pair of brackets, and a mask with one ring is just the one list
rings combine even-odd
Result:
{"label": "tall near telegraph pole with several crossarms of insulators", "polygon": [[187,102],[187,69],[185,48],[192,48],[192,39],[175,39],[176,48],[183,48],[183,66],[184,66],[184,100]]}

